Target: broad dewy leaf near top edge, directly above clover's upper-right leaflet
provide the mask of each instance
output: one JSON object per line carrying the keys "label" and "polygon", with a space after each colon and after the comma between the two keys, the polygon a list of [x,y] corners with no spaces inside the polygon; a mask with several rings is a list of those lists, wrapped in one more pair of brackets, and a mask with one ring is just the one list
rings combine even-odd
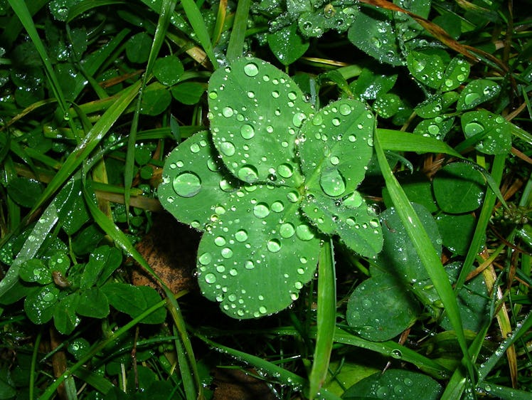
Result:
{"label": "broad dewy leaf near top edge, directly above clover's upper-right leaflet", "polygon": [[391,11],[364,4],[349,28],[348,37],[361,51],[381,63],[403,65],[391,16]]}

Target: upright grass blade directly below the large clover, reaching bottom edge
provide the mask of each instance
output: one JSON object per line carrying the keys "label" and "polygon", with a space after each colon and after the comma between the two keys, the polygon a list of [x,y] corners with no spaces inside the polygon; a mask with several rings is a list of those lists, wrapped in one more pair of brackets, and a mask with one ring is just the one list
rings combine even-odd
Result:
{"label": "upright grass blade directly below the large clover, reaching bottom edge", "polygon": [[336,327],[336,274],[331,239],[321,246],[318,261],[316,347],[310,372],[309,398],[314,399],[327,377]]}

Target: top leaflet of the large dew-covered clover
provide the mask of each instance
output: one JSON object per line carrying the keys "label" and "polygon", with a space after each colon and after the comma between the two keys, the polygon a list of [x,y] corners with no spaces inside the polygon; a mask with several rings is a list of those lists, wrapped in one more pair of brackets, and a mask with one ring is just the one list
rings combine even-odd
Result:
{"label": "top leaflet of the large dew-covered clover", "polygon": [[257,58],[239,58],[213,73],[208,102],[213,142],[235,177],[301,184],[294,142],[312,107],[288,75]]}

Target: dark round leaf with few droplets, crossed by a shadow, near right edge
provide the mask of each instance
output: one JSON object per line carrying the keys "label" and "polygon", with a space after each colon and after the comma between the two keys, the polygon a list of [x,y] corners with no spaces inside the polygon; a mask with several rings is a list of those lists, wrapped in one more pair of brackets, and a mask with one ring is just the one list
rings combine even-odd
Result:
{"label": "dark round leaf with few droplets, crossed by a shadow, near right edge", "polygon": [[432,181],[438,206],[449,214],[463,214],[479,208],[486,182],[482,174],[465,162],[448,164]]}

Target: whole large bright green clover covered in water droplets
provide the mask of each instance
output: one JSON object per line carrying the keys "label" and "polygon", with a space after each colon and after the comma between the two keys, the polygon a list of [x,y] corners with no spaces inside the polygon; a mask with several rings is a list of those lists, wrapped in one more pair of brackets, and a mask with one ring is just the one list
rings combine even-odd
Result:
{"label": "whole large bright green clover covered in water droplets", "polygon": [[166,159],[161,203],[204,231],[198,280],[235,318],[278,312],[313,276],[321,238],[339,236],[375,257],[378,216],[356,190],[376,120],[359,100],[316,111],[288,75],[239,58],[211,76],[211,135],[198,132]]}

